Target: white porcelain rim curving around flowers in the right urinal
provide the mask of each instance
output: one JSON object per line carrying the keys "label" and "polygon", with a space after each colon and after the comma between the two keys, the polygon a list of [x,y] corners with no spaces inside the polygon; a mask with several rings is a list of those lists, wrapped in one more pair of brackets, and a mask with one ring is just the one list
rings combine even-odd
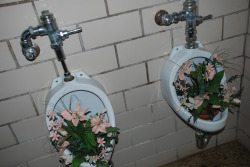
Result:
{"label": "white porcelain rim curving around flowers in the right urinal", "polygon": [[[193,59],[193,58],[202,58],[202,57],[206,57],[209,58],[211,56],[211,53],[209,53],[208,51],[204,50],[203,46],[200,45],[199,48],[195,49],[195,50],[186,50],[187,52],[206,52],[207,56],[198,56],[198,54],[193,54],[193,55],[187,55],[186,57],[182,58],[182,59],[178,59],[177,57],[175,57],[175,54],[178,54],[178,52],[181,52],[183,49],[185,49],[184,45],[179,45],[173,48],[171,55],[169,57],[169,59],[166,61],[166,63],[164,64],[162,71],[161,71],[161,90],[162,90],[162,95],[164,97],[164,99],[170,103],[171,108],[176,111],[176,109],[180,106],[180,102],[177,98],[177,94],[176,94],[176,90],[174,88],[174,86],[170,86],[170,88],[167,88],[167,85],[172,85],[172,83],[175,80],[176,74],[180,68],[180,66],[185,63],[187,60]],[[195,56],[194,56],[195,55]],[[177,62],[176,62],[177,60]],[[172,61],[174,61],[175,63],[173,63]],[[178,65],[176,65],[178,64]],[[173,66],[173,67],[172,67]],[[172,72],[168,72],[167,69],[170,69],[171,67],[171,71]],[[167,72],[166,72],[167,71]],[[168,75],[168,76],[167,76]],[[167,76],[167,78],[166,78]],[[225,80],[225,78],[224,78]],[[166,92],[169,92],[168,95],[166,95]],[[184,107],[181,107],[181,109],[179,111],[176,111],[176,113],[187,122],[187,120],[190,118],[191,113],[189,111],[187,111]],[[225,123],[226,123],[226,119],[228,116],[228,109],[224,110],[223,112],[219,112],[221,114],[221,118],[219,120],[214,120],[214,121],[210,121],[210,120],[203,120],[203,119],[197,119],[196,123],[193,122],[193,118],[191,118],[191,120],[187,123],[189,123],[190,125],[206,131],[206,132],[215,132],[218,130],[221,130],[222,128],[224,128]],[[203,125],[202,127],[200,125]],[[208,127],[209,126],[209,127]]]}

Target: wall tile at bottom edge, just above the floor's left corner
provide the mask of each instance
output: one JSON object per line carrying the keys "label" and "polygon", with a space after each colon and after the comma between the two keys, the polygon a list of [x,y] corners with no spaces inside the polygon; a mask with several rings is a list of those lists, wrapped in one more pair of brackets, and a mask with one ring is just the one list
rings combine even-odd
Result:
{"label": "wall tile at bottom edge, just above the floor's left corner", "polygon": [[163,164],[168,164],[169,162],[177,160],[176,149],[171,149],[168,151],[161,152],[159,154],[146,157],[144,159],[138,160],[136,165],[139,167],[153,167],[160,166]]}

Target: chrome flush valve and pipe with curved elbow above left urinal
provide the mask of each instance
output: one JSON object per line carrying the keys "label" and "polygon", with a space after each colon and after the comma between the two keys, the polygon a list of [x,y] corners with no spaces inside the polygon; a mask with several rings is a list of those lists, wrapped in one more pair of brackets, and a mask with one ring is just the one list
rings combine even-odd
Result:
{"label": "chrome flush valve and pipe with curved elbow above left urinal", "polygon": [[54,49],[58,61],[61,62],[64,70],[64,81],[71,81],[74,77],[70,74],[66,62],[65,53],[63,51],[63,41],[69,37],[69,35],[82,32],[82,28],[76,28],[70,31],[58,29],[56,19],[53,13],[48,10],[41,12],[40,21],[41,24],[37,27],[29,27],[21,35],[21,47],[25,58],[29,61],[34,61],[40,54],[40,48],[37,44],[33,43],[31,39],[36,39],[37,36],[48,35],[51,48]]}

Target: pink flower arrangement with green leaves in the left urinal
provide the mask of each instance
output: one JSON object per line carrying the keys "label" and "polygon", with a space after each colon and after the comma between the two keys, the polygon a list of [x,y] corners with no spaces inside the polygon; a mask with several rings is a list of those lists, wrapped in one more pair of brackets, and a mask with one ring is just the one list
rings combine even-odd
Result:
{"label": "pink flower arrangement with green leaves in the left urinal", "polygon": [[[111,142],[118,141],[119,129],[106,121],[107,110],[87,119],[89,109],[82,110],[81,104],[77,104],[75,111],[70,107],[61,113],[48,112],[51,142],[65,165],[78,167],[87,162],[97,167],[109,167],[107,154],[113,147]],[[65,154],[66,149],[70,154]]]}

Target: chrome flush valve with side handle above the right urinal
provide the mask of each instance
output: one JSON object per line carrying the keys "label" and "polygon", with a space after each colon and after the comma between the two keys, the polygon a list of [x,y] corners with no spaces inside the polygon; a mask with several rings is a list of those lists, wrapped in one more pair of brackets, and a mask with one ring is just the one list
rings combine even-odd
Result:
{"label": "chrome flush valve with side handle above the right urinal", "polygon": [[186,48],[195,49],[198,47],[198,44],[195,42],[196,37],[196,26],[200,25],[204,20],[212,18],[212,15],[205,17],[196,15],[196,1],[195,0],[186,0],[183,3],[183,10],[179,13],[174,12],[169,14],[165,10],[160,10],[155,15],[155,22],[159,26],[169,26],[173,23],[178,23],[179,21],[186,21]]}

